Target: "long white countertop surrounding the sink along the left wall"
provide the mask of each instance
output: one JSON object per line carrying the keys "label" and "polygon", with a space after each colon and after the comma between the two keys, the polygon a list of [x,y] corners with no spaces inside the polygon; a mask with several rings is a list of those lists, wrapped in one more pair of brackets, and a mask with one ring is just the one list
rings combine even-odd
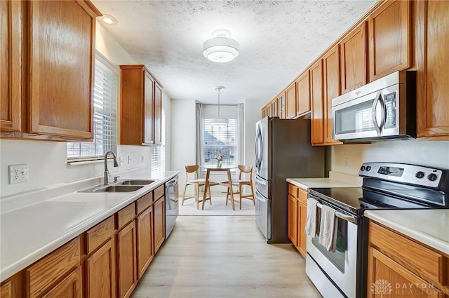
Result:
{"label": "long white countertop surrounding the sink along the left wall", "polygon": [[[6,212],[2,210],[0,281],[25,269],[177,174],[179,174],[177,171],[166,171],[122,176],[121,180],[129,178],[157,180],[132,193],[75,191],[31,205],[15,206]],[[13,198],[8,198],[11,199]]]}

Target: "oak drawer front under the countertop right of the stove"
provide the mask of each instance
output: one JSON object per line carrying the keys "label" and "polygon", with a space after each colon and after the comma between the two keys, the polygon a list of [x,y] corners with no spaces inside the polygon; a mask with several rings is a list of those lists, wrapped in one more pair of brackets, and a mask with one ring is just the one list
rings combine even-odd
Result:
{"label": "oak drawer front under the countertop right of the stove", "polygon": [[427,277],[445,285],[444,271],[448,259],[443,255],[379,224],[370,222],[368,241],[395,262],[417,276]]}

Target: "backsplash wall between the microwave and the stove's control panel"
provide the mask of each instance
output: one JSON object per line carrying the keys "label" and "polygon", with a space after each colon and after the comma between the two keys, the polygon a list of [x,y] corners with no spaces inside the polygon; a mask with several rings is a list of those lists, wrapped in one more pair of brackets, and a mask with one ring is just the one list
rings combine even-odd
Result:
{"label": "backsplash wall between the microwave and the stove's control panel", "polygon": [[[358,175],[362,163],[386,161],[449,169],[448,141],[388,140],[371,144],[343,144],[330,148],[330,168]],[[349,158],[345,168],[344,159]]]}

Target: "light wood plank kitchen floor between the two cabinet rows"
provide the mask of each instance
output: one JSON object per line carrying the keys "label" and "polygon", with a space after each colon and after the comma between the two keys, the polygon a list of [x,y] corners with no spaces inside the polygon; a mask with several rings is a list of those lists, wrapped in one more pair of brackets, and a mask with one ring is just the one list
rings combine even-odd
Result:
{"label": "light wood plank kitchen floor between the two cabinet rows", "polygon": [[269,245],[254,216],[180,216],[133,298],[321,297],[293,245]]}

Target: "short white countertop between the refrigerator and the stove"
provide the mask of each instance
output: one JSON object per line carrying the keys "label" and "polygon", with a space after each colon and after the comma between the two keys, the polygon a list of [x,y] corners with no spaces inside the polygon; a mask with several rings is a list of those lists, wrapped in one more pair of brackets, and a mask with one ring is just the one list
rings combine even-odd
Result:
{"label": "short white countertop between the refrigerator and the stove", "polygon": [[329,172],[328,178],[287,178],[287,182],[302,189],[323,187],[360,187],[361,177],[340,172]]}

